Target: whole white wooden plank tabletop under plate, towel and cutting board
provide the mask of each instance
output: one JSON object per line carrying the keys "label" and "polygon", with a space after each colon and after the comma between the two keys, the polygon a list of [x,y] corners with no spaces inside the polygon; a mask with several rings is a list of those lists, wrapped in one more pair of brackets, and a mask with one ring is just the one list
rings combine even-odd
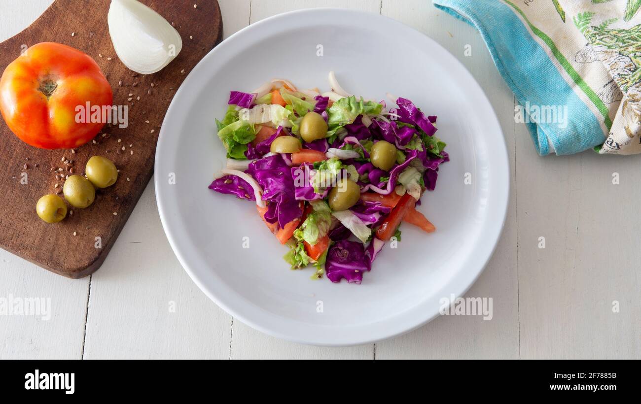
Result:
{"label": "whole white wooden plank tabletop under plate, towel and cutting board", "polygon": [[[0,40],[26,28],[50,3],[3,0]],[[481,37],[429,0],[219,3],[225,36],[297,8],[381,13],[431,36],[472,72],[499,117],[512,171],[503,236],[467,293],[492,297],[493,319],[443,316],[402,337],[350,348],[261,334],[217,307],[183,271],[160,224],[151,181],[92,277],[65,279],[0,250],[0,297],[49,297],[52,311],[49,321],[0,315],[1,359],[641,358],[641,186],[635,182],[641,156],[540,158],[524,124],[515,124],[515,99]],[[615,172],[620,184],[613,184]]]}

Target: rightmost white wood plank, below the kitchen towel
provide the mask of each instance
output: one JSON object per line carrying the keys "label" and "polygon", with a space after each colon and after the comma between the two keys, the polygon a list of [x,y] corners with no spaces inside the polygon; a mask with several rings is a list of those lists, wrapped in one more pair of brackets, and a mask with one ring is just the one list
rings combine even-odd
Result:
{"label": "rightmost white wood plank, below the kitchen towel", "polygon": [[639,359],[639,156],[540,158],[519,124],[517,163],[521,357]]}

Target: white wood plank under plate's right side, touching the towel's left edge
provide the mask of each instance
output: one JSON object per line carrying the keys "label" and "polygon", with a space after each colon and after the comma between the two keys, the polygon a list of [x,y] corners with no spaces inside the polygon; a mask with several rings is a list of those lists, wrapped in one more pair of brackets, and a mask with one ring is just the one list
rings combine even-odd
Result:
{"label": "white wood plank under plate's right side, touching the towel's left edge", "polygon": [[[499,117],[510,154],[510,206],[494,257],[465,296],[491,297],[494,316],[443,316],[396,339],[376,344],[376,359],[518,358],[516,210],[514,191],[514,100],[492,63],[478,32],[446,15],[431,2],[383,0],[383,15],[422,31],[448,49],[470,70],[485,90]],[[472,56],[463,54],[469,44]],[[455,156],[453,156],[455,158]],[[444,166],[444,170],[447,167]],[[461,173],[463,178],[463,173]]]}

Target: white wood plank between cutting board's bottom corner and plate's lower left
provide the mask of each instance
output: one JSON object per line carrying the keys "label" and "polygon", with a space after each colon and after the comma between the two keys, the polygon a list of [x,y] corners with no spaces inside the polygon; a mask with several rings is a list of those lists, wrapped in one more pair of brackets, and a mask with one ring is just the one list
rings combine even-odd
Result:
{"label": "white wood plank between cutting board's bottom corner and plate's lower left", "polygon": [[228,359],[231,317],[183,270],[165,237],[153,179],[92,275],[85,359]]}

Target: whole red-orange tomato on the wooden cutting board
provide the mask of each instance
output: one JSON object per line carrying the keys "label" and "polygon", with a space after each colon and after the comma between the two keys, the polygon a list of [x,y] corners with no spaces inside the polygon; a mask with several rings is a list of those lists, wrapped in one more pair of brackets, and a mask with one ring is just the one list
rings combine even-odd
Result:
{"label": "whole red-orange tomato on the wooden cutting board", "polygon": [[42,149],[87,143],[105,124],[103,114],[100,122],[86,119],[87,103],[103,108],[112,101],[112,88],[96,61],[54,42],[33,45],[0,78],[6,124],[22,141]]}

